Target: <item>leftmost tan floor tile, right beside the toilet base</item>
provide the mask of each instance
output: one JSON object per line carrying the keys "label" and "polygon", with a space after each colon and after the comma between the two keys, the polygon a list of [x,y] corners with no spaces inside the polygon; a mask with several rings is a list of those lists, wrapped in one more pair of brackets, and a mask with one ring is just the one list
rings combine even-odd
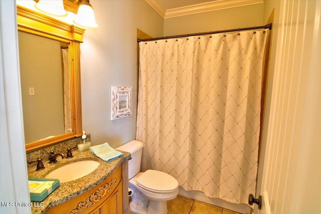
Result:
{"label": "leftmost tan floor tile, right beside the toilet base", "polygon": [[169,214],[189,214],[193,199],[178,195],[175,199],[167,201]]}

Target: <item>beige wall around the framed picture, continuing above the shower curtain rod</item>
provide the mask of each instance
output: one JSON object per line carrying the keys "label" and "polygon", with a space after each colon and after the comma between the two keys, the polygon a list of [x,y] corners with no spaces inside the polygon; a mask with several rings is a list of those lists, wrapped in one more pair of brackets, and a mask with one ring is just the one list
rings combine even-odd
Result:
{"label": "beige wall around the framed picture, continuing above the shower curtain rod", "polygon": [[[99,27],[81,44],[83,129],[93,145],[119,146],[135,138],[136,29],[151,37],[262,25],[263,4],[163,19],[145,1],[90,1]],[[110,120],[110,86],[133,87],[132,116]]]}

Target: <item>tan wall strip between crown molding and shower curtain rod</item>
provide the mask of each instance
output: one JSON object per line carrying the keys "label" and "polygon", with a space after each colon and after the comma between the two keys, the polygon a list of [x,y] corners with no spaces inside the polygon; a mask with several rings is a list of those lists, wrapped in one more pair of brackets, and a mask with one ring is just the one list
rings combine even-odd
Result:
{"label": "tan wall strip between crown molding and shower curtain rod", "polygon": [[164,20],[164,36],[261,26],[263,4],[243,6]]}

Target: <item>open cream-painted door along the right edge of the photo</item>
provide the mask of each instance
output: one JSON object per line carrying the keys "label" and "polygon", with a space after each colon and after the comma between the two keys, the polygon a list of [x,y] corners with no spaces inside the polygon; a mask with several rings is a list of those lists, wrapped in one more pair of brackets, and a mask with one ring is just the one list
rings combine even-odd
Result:
{"label": "open cream-painted door along the right edge of the photo", "polygon": [[321,213],[321,1],[279,7],[263,203],[254,213]]}

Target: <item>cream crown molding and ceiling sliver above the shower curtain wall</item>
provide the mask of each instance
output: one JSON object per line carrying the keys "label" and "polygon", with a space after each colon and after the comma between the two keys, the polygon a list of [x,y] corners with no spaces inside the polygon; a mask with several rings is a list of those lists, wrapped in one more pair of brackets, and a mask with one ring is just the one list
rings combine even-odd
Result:
{"label": "cream crown molding and ceiling sliver above the shower curtain wall", "polygon": [[264,0],[145,0],[164,19],[261,4]]}

